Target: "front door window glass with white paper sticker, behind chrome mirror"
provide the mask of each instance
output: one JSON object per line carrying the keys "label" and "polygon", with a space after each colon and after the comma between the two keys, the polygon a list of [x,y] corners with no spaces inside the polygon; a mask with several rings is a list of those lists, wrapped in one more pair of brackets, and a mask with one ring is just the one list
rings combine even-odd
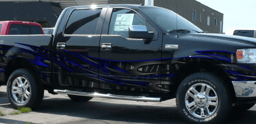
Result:
{"label": "front door window glass with white paper sticker, behind chrome mirror", "polygon": [[145,25],[145,20],[128,9],[113,9],[108,34],[129,37],[129,25]]}

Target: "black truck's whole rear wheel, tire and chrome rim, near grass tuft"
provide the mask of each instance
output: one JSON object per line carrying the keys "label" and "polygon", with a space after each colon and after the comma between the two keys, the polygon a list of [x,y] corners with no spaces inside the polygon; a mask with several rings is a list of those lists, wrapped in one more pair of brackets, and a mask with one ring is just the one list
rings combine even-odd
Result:
{"label": "black truck's whole rear wheel, tire and chrome rim, near grass tuft", "polygon": [[44,89],[38,84],[36,76],[29,69],[17,69],[7,82],[7,95],[14,108],[39,107],[44,97]]}

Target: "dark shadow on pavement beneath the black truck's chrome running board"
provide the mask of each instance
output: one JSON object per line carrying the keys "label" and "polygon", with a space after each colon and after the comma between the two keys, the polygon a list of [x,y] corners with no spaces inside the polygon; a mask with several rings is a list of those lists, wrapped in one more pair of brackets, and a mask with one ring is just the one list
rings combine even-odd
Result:
{"label": "dark shadow on pavement beneath the black truck's chrome running board", "polygon": [[70,99],[45,99],[34,112],[68,115],[89,119],[136,123],[186,123],[176,107],[139,106],[106,102],[73,102]]}

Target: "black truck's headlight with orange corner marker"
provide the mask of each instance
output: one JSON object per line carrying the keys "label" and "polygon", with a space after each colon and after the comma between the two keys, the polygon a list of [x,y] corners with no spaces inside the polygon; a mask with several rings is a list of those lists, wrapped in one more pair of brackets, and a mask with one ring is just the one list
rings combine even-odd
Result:
{"label": "black truck's headlight with orange corner marker", "polygon": [[256,63],[256,49],[238,49],[237,50],[238,63]]}

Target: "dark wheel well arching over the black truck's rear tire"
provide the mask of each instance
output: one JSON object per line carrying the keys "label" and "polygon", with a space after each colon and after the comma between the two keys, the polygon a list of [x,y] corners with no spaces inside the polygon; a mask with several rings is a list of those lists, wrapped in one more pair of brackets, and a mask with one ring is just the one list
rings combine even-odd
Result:
{"label": "dark wheel well arching over the black truck's rear tire", "polygon": [[24,58],[16,57],[10,60],[5,68],[5,82],[7,83],[8,78],[13,71],[20,68],[28,68],[29,70],[33,71],[34,74],[36,74],[34,65],[31,62]]}

